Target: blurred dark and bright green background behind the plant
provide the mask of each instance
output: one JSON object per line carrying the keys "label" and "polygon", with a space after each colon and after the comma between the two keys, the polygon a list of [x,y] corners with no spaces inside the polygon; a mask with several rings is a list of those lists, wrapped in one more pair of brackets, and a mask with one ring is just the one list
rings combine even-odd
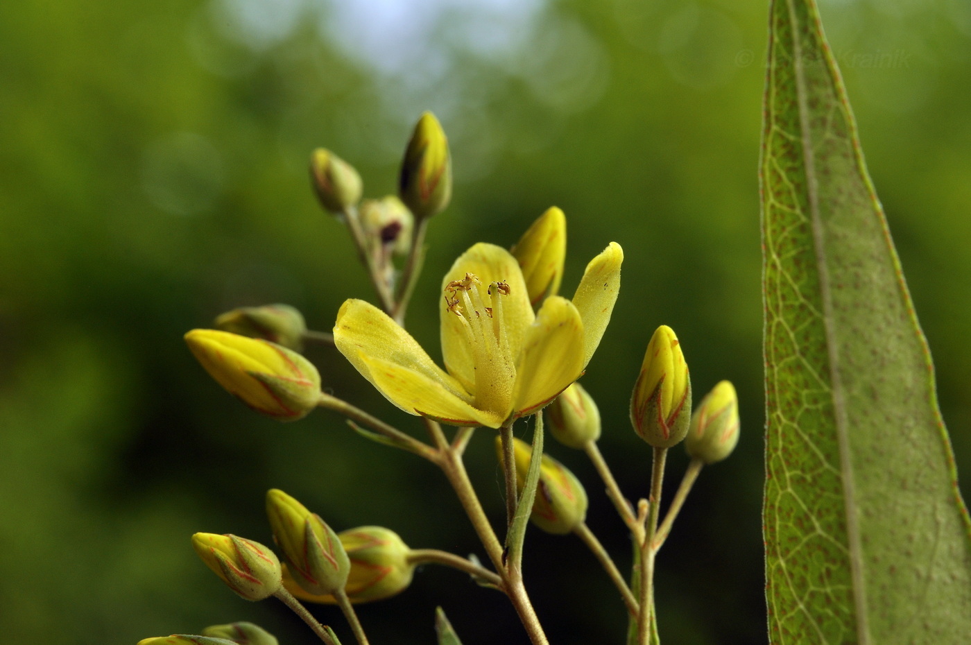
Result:
{"label": "blurred dark and bright green background behind the plant", "polygon": [[[822,5],[864,150],[938,370],[958,466],[971,468],[971,5]],[[628,496],[650,451],[627,403],[653,328],[676,329],[694,388],[739,391],[743,437],[688,501],[658,561],[661,635],[763,643],[758,157],[766,6],[730,0],[136,0],[0,3],[0,633],[17,643],[134,643],[252,620],[188,536],[270,542],[263,493],[338,529],[380,524],[413,547],[483,554],[444,478],[337,417],[251,413],[182,341],[221,311],[286,302],[328,329],[372,298],[346,231],[306,172],[326,146],[366,193],[395,185],[421,110],[452,145],[410,327],[438,353],[441,275],[475,241],[509,246],[548,206],[569,220],[564,291],[612,240],[614,319],[583,380]],[[419,424],[315,348],[325,385]],[[525,428],[520,424],[519,435]],[[469,450],[502,517],[491,432]],[[629,564],[580,454],[588,523]],[[677,485],[686,459],[669,465]],[[969,492],[965,485],[965,494]],[[624,612],[579,540],[532,529],[526,580],[555,643],[621,642]],[[376,645],[433,642],[441,604],[466,645],[525,643],[498,594],[422,570],[361,608]],[[279,605],[279,606],[278,606]],[[350,642],[332,608],[316,610]]]}

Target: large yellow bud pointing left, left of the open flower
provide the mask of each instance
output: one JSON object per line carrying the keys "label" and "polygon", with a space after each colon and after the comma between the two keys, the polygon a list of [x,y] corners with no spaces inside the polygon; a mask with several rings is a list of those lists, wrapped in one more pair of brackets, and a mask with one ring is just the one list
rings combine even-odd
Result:
{"label": "large yellow bud pointing left, left of the open flower", "polygon": [[216,329],[193,329],[185,342],[220,386],[257,412],[296,421],[317,407],[320,375],[296,352]]}

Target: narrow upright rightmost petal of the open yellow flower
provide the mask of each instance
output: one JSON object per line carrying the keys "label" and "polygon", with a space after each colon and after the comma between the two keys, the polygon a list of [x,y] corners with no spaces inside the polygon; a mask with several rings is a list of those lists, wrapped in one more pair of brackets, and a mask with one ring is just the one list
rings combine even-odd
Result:
{"label": "narrow upright rightmost petal of the open yellow flower", "polygon": [[611,242],[603,253],[586,265],[584,278],[573,294],[573,304],[584,321],[584,367],[600,344],[620,289],[620,263],[623,251]]}

